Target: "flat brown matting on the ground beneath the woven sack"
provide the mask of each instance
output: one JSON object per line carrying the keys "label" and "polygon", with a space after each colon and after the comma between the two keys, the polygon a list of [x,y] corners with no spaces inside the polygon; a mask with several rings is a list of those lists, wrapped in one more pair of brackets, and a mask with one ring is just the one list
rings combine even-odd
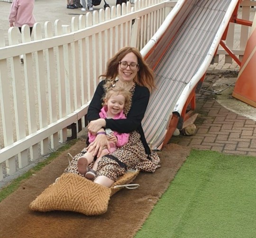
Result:
{"label": "flat brown matting on the ground beneath the woven sack", "polygon": [[0,203],[0,238],[131,238],[190,153],[187,147],[167,144],[159,152],[161,168],[153,174],[140,172],[134,180],[140,187],[121,189],[111,196],[108,211],[102,215],[29,210],[29,204],[67,167],[66,154],[75,155],[84,145],[77,142]]}

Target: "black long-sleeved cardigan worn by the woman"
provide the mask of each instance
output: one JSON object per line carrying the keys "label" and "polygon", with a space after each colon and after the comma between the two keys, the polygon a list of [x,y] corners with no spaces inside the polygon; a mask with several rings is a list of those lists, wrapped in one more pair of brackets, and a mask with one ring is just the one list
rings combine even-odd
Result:
{"label": "black long-sleeved cardigan worn by the woman", "polygon": [[[87,119],[89,122],[100,118],[99,113],[102,108],[102,97],[105,94],[103,87],[105,82],[105,80],[102,80],[99,83],[93,95],[87,112]],[[147,154],[150,154],[151,151],[146,143],[141,121],[144,117],[149,101],[149,94],[150,93],[147,87],[136,85],[127,119],[105,119],[106,128],[110,128],[113,131],[118,131],[119,133],[130,133],[137,130],[137,132],[140,134],[142,144]]]}

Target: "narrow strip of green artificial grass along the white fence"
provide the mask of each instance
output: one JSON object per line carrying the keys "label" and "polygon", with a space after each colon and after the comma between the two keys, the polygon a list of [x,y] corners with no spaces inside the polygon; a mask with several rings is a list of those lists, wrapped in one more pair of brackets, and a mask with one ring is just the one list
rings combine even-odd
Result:
{"label": "narrow strip of green artificial grass along the white fence", "polygon": [[18,178],[15,178],[13,181],[9,183],[6,187],[3,187],[0,189],[0,202],[5,199],[7,196],[9,196],[11,193],[13,193],[20,184],[25,180],[30,178],[33,174],[35,174],[37,171],[44,168],[47,164],[49,164],[51,161],[53,161],[57,156],[59,156],[62,152],[69,149],[73,144],[75,144],[78,141],[78,139],[69,141],[67,144],[64,144],[62,147],[57,149],[55,152],[51,153],[47,159],[45,159],[42,162],[39,162],[35,167],[28,170],[23,175],[19,176]]}

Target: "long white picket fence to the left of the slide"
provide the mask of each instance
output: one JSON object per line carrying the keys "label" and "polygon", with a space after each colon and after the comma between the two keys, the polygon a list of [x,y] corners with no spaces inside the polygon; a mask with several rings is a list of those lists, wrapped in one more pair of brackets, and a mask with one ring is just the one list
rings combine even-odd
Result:
{"label": "long white picket fence to the left of the slide", "polygon": [[175,3],[138,0],[73,17],[71,26],[37,23],[33,41],[28,26],[21,43],[16,27],[9,45],[0,36],[0,180],[65,142],[70,125],[86,126],[107,60],[127,45],[141,49]]}

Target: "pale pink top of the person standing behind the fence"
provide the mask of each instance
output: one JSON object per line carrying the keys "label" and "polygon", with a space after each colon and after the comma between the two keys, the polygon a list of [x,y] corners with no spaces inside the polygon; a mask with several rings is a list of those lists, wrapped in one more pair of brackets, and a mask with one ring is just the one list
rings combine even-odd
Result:
{"label": "pale pink top of the person standing behind the fence", "polygon": [[9,23],[21,27],[28,25],[34,26],[36,19],[33,16],[35,0],[13,0],[10,8]]}

